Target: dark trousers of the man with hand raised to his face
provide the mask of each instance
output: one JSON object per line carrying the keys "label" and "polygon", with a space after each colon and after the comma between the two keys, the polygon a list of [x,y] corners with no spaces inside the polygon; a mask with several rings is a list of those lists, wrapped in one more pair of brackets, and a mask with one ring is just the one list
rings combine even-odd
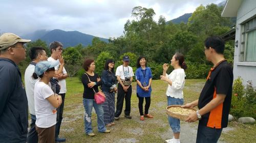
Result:
{"label": "dark trousers of the man with hand raised to his face", "polygon": [[58,136],[59,136],[59,130],[60,130],[61,122],[62,122],[62,115],[63,115],[63,108],[64,108],[64,101],[65,101],[66,93],[62,93],[62,94],[59,94],[59,95],[62,98],[62,103],[57,108],[57,122],[56,122],[56,127],[55,127],[55,138],[58,138]]}

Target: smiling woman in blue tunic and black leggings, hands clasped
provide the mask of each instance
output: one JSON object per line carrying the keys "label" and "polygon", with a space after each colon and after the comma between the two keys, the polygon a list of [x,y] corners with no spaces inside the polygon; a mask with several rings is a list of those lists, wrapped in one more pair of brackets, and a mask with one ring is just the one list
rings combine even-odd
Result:
{"label": "smiling woman in blue tunic and black leggings, hands clasped", "polygon": [[[148,113],[151,102],[151,82],[152,82],[152,72],[151,68],[147,67],[146,58],[140,56],[137,60],[137,70],[136,70],[136,81],[137,81],[137,97],[139,98],[139,110],[140,110],[140,120],[144,121],[144,117],[153,118]],[[143,101],[146,101],[145,112],[143,115]]]}

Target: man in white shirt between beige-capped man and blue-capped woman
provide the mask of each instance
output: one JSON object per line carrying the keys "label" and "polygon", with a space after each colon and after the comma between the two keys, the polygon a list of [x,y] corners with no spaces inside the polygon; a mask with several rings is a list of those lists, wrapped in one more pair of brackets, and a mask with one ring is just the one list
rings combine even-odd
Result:
{"label": "man in white shirt between beige-capped man and blue-capped woman", "polygon": [[26,88],[26,95],[28,98],[28,105],[29,105],[29,112],[31,115],[31,124],[30,124],[30,130],[28,132],[28,143],[32,142],[38,142],[38,135],[35,129],[35,104],[34,104],[34,86],[35,82],[38,79],[33,79],[32,75],[35,70],[36,63],[40,61],[47,61],[47,54],[44,48],[42,47],[32,47],[30,49],[29,53],[30,59],[32,59],[32,62],[29,64],[25,71],[25,88]]}

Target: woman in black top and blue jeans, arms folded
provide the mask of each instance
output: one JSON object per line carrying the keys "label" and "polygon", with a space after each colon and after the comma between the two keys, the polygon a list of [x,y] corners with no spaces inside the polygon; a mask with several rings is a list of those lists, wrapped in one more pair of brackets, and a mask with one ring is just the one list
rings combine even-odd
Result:
{"label": "woman in black top and blue jeans, arms folded", "polygon": [[103,121],[103,109],[101,104],[97,104],[94,100],[94,94],[97,93],[98,86],[102,84],[97,73],[94,73],[94,60],[86,59],[83,63],[83,68],[86,72],[82,75],[83,84],[83,106],[84,106],[84,130],[87,135],[95,136],[92,129],[92,108],[94,107],[97,114],[98,131],[102,133],[110,133],[110,130],[105,128]]}

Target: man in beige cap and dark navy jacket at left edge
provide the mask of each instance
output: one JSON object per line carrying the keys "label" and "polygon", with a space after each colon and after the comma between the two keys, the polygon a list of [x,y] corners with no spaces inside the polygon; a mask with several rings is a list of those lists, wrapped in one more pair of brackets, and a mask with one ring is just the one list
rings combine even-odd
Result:
{"label": "man in beige cap and dark navy jacket at left edge", "polygon": [[0,142],[26,142],[28,101],[18,64],[25,60],[24,44],[12,33],[0,36]]}

